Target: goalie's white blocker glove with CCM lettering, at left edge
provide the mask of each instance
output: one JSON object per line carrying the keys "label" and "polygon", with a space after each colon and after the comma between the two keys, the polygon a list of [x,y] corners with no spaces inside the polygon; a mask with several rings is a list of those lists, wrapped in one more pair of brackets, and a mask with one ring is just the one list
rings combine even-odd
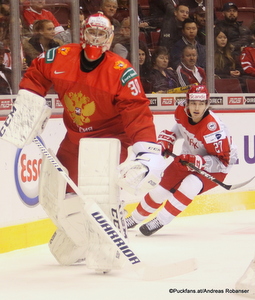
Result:
{"label": "goalie's white blocker glove with CCM lettering, at left edge", "polygon": [[27,90],[19,90],[12,110],[0,129],[0,137],[18,148],[40,135],[51,115],[46,100]]}

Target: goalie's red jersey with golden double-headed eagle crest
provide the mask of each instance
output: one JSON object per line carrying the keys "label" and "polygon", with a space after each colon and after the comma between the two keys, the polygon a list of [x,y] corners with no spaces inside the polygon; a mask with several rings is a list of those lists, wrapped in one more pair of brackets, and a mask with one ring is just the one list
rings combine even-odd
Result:
{"label": "goalie's red jersey with golden double-headed eagle crest", "polygon": [[20,83],[45,96],[51,85],[64,106],[68,137],[114,137],[129,144],[156,142],[149,100],[130,62],[110,51],[90,72],[81,70],[83,49],[67,44],[33,60]]}

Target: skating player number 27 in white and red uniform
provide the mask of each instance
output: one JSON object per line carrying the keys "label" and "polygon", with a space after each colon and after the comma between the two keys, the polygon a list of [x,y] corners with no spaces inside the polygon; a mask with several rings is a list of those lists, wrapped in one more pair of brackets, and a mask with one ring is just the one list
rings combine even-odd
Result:
{"label": "skating player number 27 in white and red uniform", "polygon": [[216,183],[194,172],[184,162],[223,181],[237,160],[226,126],[209,109],[210,96],[205,86],[192,86],[186,101],[175,111],[176,124],[171,131],[163,130],[158,137],[163,155],[168,157],[177,139],[183,139],[181,155],[166,168],[160,185],[150,191],[126,219],[127,227],[135,227],[155,212],[164,201],[156,218],[142,225],[140,231],[149,236],[170,223],[194,199],[216,186]]}

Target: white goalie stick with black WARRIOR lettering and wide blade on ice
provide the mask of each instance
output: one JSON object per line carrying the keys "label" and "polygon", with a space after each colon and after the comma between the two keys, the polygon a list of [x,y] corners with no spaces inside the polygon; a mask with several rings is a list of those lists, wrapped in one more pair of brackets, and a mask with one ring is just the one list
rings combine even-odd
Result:
{"label": "white goalie stick with black WARRIOR lettering and wide blade on ice", "polygon": [[107,239],[121,251],[128,262],[131,264],[134,271],[138,273],[143,280],[158,280],[185,274],[196,269],[196,262],[194,259],[180,261],[167,266],[150,267],[144,264],[134,251],[129,246],[126,238],[116,229],[112,221],[105,215],[98,204],[92,199],[87,198],[82,193],[80,188],[73,182],[69,175],[65,172],[62,166],[45,148],[41,141],[35,137],[33,142],[40,148],[46,158],[53,164],[53,166],[65,178],[66,182],[71,186],[74,192],[83,200],[86,213],[90,221],[100,229],[100,231],[107,237]]}

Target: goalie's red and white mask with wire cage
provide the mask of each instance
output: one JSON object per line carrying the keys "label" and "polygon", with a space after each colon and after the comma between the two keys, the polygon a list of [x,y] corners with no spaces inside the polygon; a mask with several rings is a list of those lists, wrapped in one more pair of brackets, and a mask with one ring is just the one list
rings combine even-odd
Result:
{"label": "goalie's red and white mask with wire cage", "polygon": [[109,50],[113,40],[113,26],[103,13],[89,16],[84,26],[84,51],[90,60],[96,60]]}

